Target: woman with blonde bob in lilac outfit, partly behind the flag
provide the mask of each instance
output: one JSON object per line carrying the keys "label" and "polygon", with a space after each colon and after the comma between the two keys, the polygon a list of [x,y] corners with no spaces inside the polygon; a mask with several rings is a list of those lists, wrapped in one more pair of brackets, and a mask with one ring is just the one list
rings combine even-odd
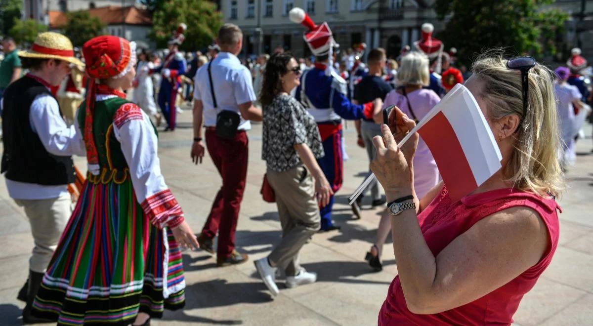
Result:
{"label": "woman with blonde bob in lilac outfit, partly behind the flag", "polygon": [[[394,105],[418,122],[441,100],[435,92],[423,88],[429,84],[428,57],[423,53],[411,52],[402,57],[397,78],[400,87],[387,94],[384,106]],[[414,156],[414,171],[414,188],[417,196],[422,198],[440,180],[435,159],[422,138]],[[379,222],[375,243],[365,257],[374,270],[382,269],[382,248],[390,232],[390,218],[385,212]]]}

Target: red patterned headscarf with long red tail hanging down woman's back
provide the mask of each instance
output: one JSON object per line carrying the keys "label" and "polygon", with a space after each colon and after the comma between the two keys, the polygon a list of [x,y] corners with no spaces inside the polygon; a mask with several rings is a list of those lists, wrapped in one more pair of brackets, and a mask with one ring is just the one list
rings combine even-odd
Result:
{"label": "red patterned headscarf with long red tail hanging down woman's back", "polygon": [[122,78],[133,69],[136,65],[136,43],[117,36],[97,36],[84,43],[82,55],[87,62],[85,72],[89,76],[83,138],[87,147],[88,170],[98,174],[99,156],[93,135],[93,112],[97,88],[105,85],[97,83],[99,79]]}

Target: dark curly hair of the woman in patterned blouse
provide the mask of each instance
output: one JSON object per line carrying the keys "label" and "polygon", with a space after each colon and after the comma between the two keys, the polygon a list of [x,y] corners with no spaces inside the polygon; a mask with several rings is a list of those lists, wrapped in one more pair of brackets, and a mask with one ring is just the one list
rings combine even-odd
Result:
{"label": "dark curly hair of the woman in patterned blouse", "polygon": [[291,59],[294,59],[292,53],[284,52],[274,53],[267,60],[266,69],[263,73],[262,88],[259,94],[259,101],[262,103],[263,108],[272,104],[274,97],[279,92],[282,92],[282,81],[280,81],[280,78],[288,72],[286,66],[288,66]]}

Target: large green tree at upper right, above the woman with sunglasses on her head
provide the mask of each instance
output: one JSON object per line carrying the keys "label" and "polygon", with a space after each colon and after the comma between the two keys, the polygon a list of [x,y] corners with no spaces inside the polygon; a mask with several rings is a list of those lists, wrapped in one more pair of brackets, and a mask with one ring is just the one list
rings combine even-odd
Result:
{"label": "large green tree at upper right, above the woman with sunglasses on her head", "polygon": [[509,54],[536,58],[555,55],[557,37],[565,31],[568,14],[544,9],[554,0],[436,0],[439,19],[451,15],[438,34],[447,47],[456,47],[462,62],[483,50],[505,47]]}

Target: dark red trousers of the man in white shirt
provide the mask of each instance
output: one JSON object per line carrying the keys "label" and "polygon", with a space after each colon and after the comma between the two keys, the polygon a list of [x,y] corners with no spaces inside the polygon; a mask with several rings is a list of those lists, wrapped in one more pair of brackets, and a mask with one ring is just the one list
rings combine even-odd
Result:
{"label": "dark red trousers of the man in white shirt", "polygon": [[206,129],[206,148],[218,173],[222,187],[216,194],[202,234],[214,238],[218,232],[218,257],[227,258],[235,249],[235,230],[247,177],[247,133],[238,131],[235,139],[218,138],[214,130]]}

